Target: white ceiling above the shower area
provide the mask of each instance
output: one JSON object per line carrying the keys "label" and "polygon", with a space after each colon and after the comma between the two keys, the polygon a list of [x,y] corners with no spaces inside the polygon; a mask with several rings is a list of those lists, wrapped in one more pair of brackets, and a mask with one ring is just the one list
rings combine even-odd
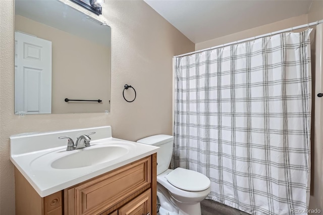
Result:
{"label": "white ceiling above the shower area", "polygon": [[307,14],[312,3],[312,0],[144,1],[194,43]]}

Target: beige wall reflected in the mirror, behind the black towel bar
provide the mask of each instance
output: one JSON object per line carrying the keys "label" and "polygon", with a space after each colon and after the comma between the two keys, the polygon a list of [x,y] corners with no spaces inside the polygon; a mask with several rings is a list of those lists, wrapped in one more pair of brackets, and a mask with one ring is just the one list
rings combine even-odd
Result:
{"label": "beige wall reflected in the mirror, behind the black towel bar", "polygon": [[[94,24],[96,25],[96,24]],[[15,16],[15,30],[52,43],[51,113],[104,113],[110,100],[110,47]],[[97,102],[65,102],[101,99]]]}

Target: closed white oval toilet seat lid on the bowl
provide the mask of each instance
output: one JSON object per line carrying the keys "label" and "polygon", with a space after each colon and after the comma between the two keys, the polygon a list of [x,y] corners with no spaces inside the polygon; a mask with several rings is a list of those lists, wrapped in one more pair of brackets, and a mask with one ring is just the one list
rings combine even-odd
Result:
{"label": "closed white oval toilet seat lid on the bowl", "polygon": [[165,178],[173,186],[186,191],[203,191],[210,186],[210,180],[206,176],[183,168],[176,168]]}

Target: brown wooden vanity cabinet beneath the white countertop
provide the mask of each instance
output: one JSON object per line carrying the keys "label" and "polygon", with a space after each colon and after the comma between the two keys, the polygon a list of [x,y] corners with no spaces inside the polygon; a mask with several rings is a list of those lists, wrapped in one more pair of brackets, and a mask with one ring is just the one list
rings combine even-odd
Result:
{"label": "brown wooden vanity cabinet beneath the white countertop", "polygon": [[154,153],[44,198],[16,170],[16,214],[155,215],[156,158]]}

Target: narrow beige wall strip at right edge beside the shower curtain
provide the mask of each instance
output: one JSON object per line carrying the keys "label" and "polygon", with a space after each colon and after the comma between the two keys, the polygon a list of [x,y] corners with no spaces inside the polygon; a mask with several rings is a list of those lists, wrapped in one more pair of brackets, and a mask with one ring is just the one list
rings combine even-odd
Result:
{"label": "narrow beige wall strip at right edge beside the shower curtain", "polygon": [[[323,19],[323,1],[313,1],[308,13],[308,22],[315,22],[318,20]],[[312,71],[313,73],[313,84],[315,83],[316,86],[315,90],[313,90],[313,106],[315,107],[315,112],[312,114],[313,123],[315,125],[314,130],[314,138],[311,139],[312,146],[311,146],[311,163],[312,163],[312,174],[311,174],[311,196],[309,201],[309,207],[312,209],[320,208],[321,211],[323,210],[323,142],[322,142],[322,129],[323,129],[323,122],[322,122],[322,102],[323,100],[316,96],[317,93],[322,92],[323,86],[323,24],[316,29],[316,44],[315,42],[312,43]],[[312,127],[313,127],[312,123]]]}

